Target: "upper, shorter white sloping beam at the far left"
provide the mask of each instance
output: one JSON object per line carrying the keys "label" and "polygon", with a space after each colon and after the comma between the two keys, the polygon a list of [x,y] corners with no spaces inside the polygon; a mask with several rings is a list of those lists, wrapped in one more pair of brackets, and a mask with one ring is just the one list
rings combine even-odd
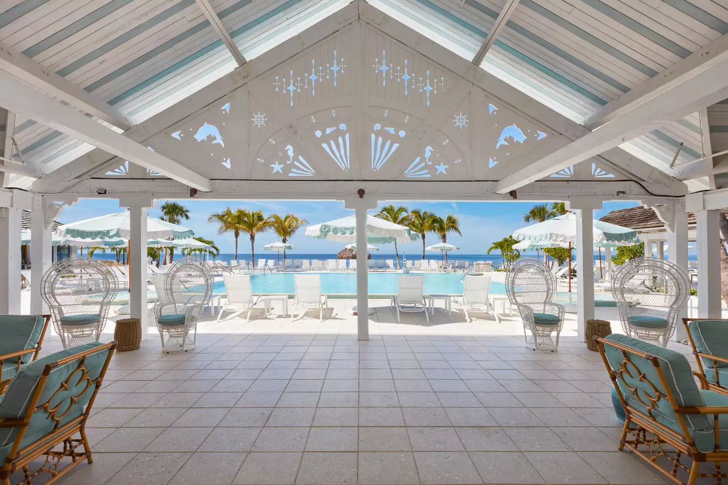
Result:
{"label": "upper, shorter white sloping beam at the far left", "polygon": [[132,125],[129,119],[114,106],[94,97],[82,87],[71,84],[30,57],[23,55],[22,52],[4,44],[0,44],[0,69],[22,79],[47,95],[58,97],[98,119],[113,124],[114,127],[126,131]]}

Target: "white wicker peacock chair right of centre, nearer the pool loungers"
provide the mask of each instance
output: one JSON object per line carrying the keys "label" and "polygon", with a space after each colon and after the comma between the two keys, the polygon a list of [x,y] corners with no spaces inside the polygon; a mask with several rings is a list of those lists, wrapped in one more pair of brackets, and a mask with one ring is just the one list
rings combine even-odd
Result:
{"label": "white wicker peacock chair right of centre, nearer the pool loungers", "polygon": [[[524,257],[506,273],[505,289],[508,300],[521,313],[526,345],[534,350],[556,350],[565,310],[563,305],[551,301],[556,292],[556,278],[549,268],[535,258]],[[553,332],[556,332],[555,341]]]}

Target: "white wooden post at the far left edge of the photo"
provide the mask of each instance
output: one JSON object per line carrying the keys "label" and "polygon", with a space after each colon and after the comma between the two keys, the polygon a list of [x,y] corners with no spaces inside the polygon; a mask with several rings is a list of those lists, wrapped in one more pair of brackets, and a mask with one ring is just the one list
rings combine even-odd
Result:
{"label": "white wooden post at the far left edge of the photo", "polygon": [[20,313],[20,211],[31,194],[0,189],[0,315]]}

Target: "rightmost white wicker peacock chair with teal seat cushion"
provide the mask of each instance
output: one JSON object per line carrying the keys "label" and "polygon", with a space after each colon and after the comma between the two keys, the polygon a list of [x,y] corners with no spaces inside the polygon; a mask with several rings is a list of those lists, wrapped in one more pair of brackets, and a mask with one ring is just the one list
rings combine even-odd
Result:
{"label": "rightmost white wicker peacock chair with teal seat cushion", "polygon": [[641,257],[618,266],[612,295],[630,337],[667,347],[688,299],[687,275],[672,262]]}

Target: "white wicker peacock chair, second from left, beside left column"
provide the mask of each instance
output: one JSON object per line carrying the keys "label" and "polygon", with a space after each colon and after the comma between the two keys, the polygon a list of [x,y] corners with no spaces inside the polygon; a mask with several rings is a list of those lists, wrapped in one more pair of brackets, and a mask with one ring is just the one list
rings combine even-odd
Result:
{"label": "white wicker peacock chair, second from left, beside left column", "polygon": [[[213,294],[214,276],[204,262],[187,258],[175,261],[165,276],[164,301],[154,304],[162,350],[180,352],[194,348],[197,321]],[[190,340],[189,332],[194,329]],[[165,342],[165,332],[167,342]]]}

